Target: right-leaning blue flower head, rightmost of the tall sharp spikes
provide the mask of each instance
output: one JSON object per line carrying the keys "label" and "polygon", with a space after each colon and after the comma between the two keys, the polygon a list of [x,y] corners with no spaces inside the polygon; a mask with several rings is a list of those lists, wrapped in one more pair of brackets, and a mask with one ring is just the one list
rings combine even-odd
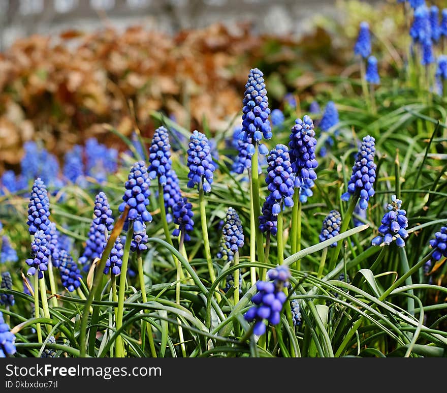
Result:
{"label": "right-leaning blue flower head, rightmost of the tall sharp spikes", "polygon": [[351,195],[356,191],[360,192],[359,206],[361,209],[368,207],[369,198],[374,195],[375,169],[374,155],[375,155],[375,139],[372,136],[365,136],[359,153],[357,153],[356,162],[353,166],[353,173],[347,185],[347,192],[345,192],[341,199],[348,201]]}

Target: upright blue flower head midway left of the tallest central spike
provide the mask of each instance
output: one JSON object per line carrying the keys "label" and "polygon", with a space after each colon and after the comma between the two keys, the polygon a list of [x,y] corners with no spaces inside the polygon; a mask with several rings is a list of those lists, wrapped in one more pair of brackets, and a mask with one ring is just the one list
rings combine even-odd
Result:
{"label": "upright blue flower head midway left of the tallest central spike", "polygon": [[169,144],[169,133],[165,127],[158,127],[153,135],[152,144],[149,147],[149,177],[158,177],[162,186],[167,183],[166,174],[171,169],[171,145]]}

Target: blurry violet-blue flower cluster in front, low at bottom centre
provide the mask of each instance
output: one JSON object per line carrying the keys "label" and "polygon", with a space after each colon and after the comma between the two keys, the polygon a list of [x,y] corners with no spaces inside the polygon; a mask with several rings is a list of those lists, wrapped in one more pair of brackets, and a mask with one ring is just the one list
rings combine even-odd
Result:
{"label": "blurry violet-blue flower cluster in front, low at bottom centre", "polygon": [[281,265],[270,269],[267,277],[270,281],[256,283],[258,292],[251,298],[254,306],[244,314],[246,321],[256,321],[253,333],[257,336],[262,336],[266,332],[264,320],[268,320],[272,325],[280,322],[280,312],[286,299],[283,288],[289,286],[291,274],[288,266]]}

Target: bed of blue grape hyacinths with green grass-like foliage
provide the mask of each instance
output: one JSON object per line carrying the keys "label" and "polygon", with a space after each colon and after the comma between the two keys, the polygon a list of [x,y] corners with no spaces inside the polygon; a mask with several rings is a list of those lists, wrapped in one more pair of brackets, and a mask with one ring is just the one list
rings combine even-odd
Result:
{"label": "bed of blue grape hyacinths with green grass-like foliage", "polygon": [[446,37],[387,75],[369,29],[321,112],[271,118],[253,68],[236,127],[154,112],[153,139],[109,125],[129,149],[90,140],[62,173],[29,145],[2,177],[0,355],[445,356]]}

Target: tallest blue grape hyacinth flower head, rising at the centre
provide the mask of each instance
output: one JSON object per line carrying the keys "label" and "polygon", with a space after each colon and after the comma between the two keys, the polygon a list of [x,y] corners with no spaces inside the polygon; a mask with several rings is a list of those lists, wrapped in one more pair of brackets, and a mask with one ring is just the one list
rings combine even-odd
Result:
{"label": "tallest blue grape hyacinth flower head, rising at the centre", "polygon": [[245,84],[244,99],[242,100],[242,131],[239,139],[248,142],[248,153],[254,154],[254,145],[259,143],[259,152],[267,154],[268,149],[261,142],[262,138],[272,137],[272,128],[269,122],[270,108],[264,74],[253,68],[248,74]]}

